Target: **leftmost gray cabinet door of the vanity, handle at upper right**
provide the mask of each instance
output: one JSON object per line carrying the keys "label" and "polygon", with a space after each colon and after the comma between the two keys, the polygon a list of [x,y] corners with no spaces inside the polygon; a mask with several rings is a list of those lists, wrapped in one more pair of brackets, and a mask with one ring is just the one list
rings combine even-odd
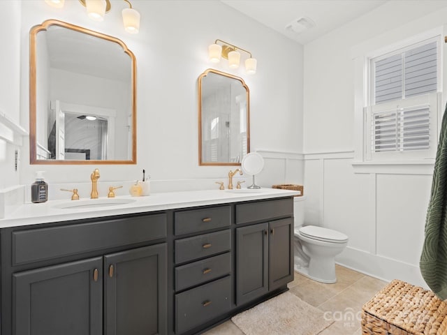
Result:
{"label": "leftmost gray cabinet door of the vanity, handle at upper right", "polygon": [[101,257],[13,274],[14,335],[102,335]]}

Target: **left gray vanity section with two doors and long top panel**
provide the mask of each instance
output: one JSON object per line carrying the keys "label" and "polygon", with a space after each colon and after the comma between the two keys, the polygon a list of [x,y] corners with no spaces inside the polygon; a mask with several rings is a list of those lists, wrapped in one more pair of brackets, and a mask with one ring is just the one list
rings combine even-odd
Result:
{"label": "left gray vanity section with two doors and long top panel", "polygon": [[167,215],[1,230],[1,334],[166,335]]}

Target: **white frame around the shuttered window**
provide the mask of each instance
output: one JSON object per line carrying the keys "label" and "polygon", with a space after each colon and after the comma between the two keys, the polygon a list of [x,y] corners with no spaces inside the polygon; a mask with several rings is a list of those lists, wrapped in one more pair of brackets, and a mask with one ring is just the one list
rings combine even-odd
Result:
{"label": "white frame around the shuttered window", "polygon": [[[427,41],[437,40],[437,114],[432,120],[432,131],[434,132],[435,142],[432,147],[437,147],[439,137],[439,127],[441,125],[442,103],[445,103],[444,96],[444,81],[447,73],[444,73],[444,67],[447,66],[447,60],[444,60],[444,34],[447,32],[446,27],[438,27],[425,31],[422,34],[412,36],[410,38],[402,38],[398,42],[390,42],[385,47],[377,41],[371,43],[362,43],[353,47],[353,64],[354,64],[354,153],[353,153],[353,168],[356,173],[370,173],[378,170],[395,172],[404,166],[413,165],[417,171],[428,171],[434,164],[436,149],[434,149],[434,156],[419,156],[415,157],[413,154],[402,155],[400,151],[394,151],[394,157],[371,159],[368,157],[367,147],[371,145],[371,140],[367,138],[367,108],[372,101],[372,80],[371,75],[371,60],[377,57],[390,55],[393,52],[397,53],[404,48],[412,49],[429,43]],[[369,45],[369,48],[368,48]],[[374,50],[372,50],[374,48]],[[355,54],[354,54],[355,53]],[[397,100],[402,101],[402,100]],[[396,102],[397,102],[396,101]],[[380,105],[380,104],[379,104]],[[404,151],[408,154],[411,151]],[[389,155],[393,156],[393,155]],[[402,157],[408,156],[408,157]],[[412,156],[412,157],[410,157]],[[417,155],[416,155],[417,156]],[[422,170],[420,170],[422,169]],[[428,170],[427,170],[428,169]],[[404,171],[404,170],[401,170]]]}

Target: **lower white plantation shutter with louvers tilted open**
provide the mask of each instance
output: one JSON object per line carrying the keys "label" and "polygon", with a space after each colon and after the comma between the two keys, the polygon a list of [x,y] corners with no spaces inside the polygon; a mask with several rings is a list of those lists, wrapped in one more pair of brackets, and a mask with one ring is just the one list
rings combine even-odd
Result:
{"label": "lower white plantation shutter with louvers tilted open", "polygon": [[434,157],[439,98],[440,94],[424,94],[369,107],[368,158],[396,159],[396,152],[411,158]]}

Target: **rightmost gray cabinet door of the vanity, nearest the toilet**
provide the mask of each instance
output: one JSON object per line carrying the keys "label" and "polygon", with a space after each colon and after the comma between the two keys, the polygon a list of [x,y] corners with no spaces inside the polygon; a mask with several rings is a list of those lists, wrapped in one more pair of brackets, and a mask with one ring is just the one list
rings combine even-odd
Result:
{"label": "rightmost gray cabinet door of the vanity, nearest the toilet", "polygon": [[269,223],[269,290],[293,281],[293,218]]}

